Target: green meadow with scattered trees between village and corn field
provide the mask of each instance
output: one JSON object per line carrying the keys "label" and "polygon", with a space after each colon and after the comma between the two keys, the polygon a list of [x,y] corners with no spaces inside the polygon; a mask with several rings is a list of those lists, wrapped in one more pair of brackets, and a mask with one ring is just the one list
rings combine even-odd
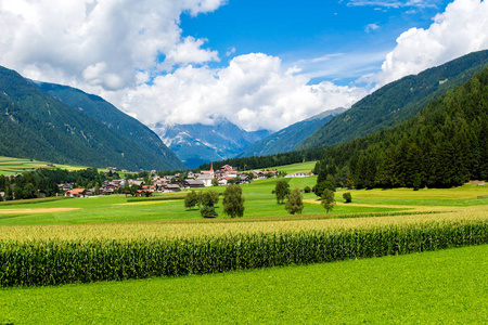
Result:
{"label": "green meadow with scattered trees between village and corn field", "polygon": [[[306,185],[312,186],[316,183],[316,178],[287,180],[292,188],[304,188]],[[275,182],[275,179],[269,179],[243,185],[243,195],[246,198],[245,218],[287,214],[284,206],[277,205],[274,195],[271,194]],[[224,187],[207,187],[204,191],[209,190],[223,192]],[[352,193],[352,204],[349,205],[343,204],[343,192],[337,192],[336,199],[338,204],[330,214],[387,212],[414,209],[419,206],[463,207],[488,204],[488,199],[476,198],[479,195],[488,194],[488,185],[476,186],[474,184],[467,184],[452,190],[421,190],[419,192],[406,188],[350,192]],[[304,213],[325,214],[325,210],[317,202],[317,197],[313,194],[304,194],[304,198],[306,200]],[[218,207],[219,218],[222,218],[221,200]],[[5,209],[37,208],[79,208],[79,210],[47,213],[15,213],[15,211],[1,213]],[[29,205],[22,203],[15,205],[0,204],[0,225],[76,224],[187,219],[201,219],[201,216],[196,209],[187,211],[182,200],[128,204],[124,196],[108,196],[42,202]]]}

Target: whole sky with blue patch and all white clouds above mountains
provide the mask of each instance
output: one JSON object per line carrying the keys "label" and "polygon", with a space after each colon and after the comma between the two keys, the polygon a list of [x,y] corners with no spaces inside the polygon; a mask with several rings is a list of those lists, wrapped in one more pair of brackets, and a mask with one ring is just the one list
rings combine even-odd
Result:
{"label": "whole sky with blue patch and all white clouds above mountains", "polygon": [[480,0],[0,0],[0,65],[153,128],[277,131],[486,49]]}

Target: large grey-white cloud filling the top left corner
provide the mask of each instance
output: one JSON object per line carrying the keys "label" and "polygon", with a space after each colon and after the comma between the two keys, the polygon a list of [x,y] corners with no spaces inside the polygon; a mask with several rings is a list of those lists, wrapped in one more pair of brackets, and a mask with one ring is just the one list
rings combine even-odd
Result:
{"label": "large grey-white cloud filling the top left corner", "polygon": [[179,17],[224,0],[0,0],[0,64],[29,78],[117,90],[179,64],[218,61]]}

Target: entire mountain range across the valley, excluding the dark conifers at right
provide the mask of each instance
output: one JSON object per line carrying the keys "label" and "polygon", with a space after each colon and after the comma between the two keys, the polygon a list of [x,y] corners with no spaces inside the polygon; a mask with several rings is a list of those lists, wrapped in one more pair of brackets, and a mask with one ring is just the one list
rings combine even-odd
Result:
{"label": "entire mountain range across the valley, excluding the dark conifers at right", "polygon": [[[486,64],[488,51],[471,53],[388,83],[347,110],[324,112],[272,134],[247,132],[223,118],[216,118],[213,126],[156,123],[151,130],[100,96],[31,81],[0,67],[0,155],[130,170],[195,168],[229,158],[239,165],[244,157],[292,151],[300,153],[281,154],[280,159],[313,159],[320,147],[347,143],[412,118]],[[271,160],[279,164],[280,159]]]}

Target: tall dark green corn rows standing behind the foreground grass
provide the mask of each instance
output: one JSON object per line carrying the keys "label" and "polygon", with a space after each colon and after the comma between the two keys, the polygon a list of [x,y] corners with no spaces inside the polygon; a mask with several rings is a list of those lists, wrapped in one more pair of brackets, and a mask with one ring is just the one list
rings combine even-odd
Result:
{"label": "tall dark green corn rows standing behind the foreground grass", "polygon": [[[251,226],[247,231],[222,227],[192,236],[2,238],[0,285],[42,286],[180,276],[479,245],[488,243],[488,220],[483,216],[362,226],[356,222],[354,227],[326,226],[326,221],[332,220],[321,220],[325,222],[322,226],[320,222],[311,226],[310,221],[304,221],[301,227],[296,226],[298,221],[293,227],[286,222],[275,222],[261,223],[271,231],[252,224],[254,231],[249,231]],[[207,224],[191,226],[195,230],[202,225]]]}

